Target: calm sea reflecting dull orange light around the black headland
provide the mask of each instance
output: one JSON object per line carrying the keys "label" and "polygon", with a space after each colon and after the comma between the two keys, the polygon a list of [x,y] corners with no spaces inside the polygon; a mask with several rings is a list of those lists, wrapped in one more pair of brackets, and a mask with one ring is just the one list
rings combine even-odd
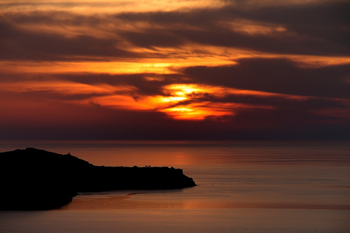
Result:
{"label": "calm sea reflecting dull orange light around the black headland", "polygon": [[350,232],[349,141],[0,141],[0,152],[27,147],[100,166],[179,168],[197,186],[0,211],[0,232]]}

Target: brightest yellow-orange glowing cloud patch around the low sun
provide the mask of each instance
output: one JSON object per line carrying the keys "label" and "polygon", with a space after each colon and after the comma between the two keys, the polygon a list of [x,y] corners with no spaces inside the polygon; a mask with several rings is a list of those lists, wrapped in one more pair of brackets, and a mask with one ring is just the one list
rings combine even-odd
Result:
{"label": "brightest yellow-orange glowing cloud patch around the low sun", "polygon": [[93,97],[78,101],[88,104],[91,101],[109,108],[124,108],[128,110],[160,111],[178,120],[203,120],[209,115],[235,115],[241,108],[272,108],[272,106],[258,106],[253,104],[220,103],[206,99],[212,97],[224,98],[229,94],[274,96],[265,92],[249,90],[235,90],[227,87],[215,87],[196,84],[176,84],[163,87],[164,95],[137,96],[127,94],[113,94],[102,97]]}

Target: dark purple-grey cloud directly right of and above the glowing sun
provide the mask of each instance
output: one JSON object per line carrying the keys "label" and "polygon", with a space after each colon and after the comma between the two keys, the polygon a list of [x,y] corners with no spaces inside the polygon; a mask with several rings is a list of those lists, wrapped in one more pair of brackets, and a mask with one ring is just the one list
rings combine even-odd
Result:
{"label": "dark purple-grey cloud directly right of and above the glowing sun", "polygon": [[183,70],[194,83],[280,94],[349,98],[350,66],[300,67],[288,59],[241,59],[233,66]]}

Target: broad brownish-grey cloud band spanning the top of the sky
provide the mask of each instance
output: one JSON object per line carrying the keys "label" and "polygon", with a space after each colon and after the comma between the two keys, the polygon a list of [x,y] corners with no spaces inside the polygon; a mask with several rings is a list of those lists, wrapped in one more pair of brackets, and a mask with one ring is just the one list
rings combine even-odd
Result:
{"label": "broad brownish-grey cloud band spanning the top of the sky", "polygon": [[[111,60],[193,44],[272,54],[349,55],[349,7],[346,1],[256,7],[235,1],[216,8],[136,13],[82,14],[44,7],[5,11],[1,58]],[[132,52],[137,48],[151,50]]]}

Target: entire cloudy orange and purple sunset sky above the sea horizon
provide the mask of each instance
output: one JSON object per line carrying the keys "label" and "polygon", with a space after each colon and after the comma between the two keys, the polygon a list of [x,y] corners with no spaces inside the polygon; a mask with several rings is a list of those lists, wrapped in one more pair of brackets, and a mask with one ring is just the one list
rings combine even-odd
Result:
{"label": "entire cloudy orange and purple sunset sky above the sea horizon", "polygon": [[0,139],[350,140],[349,10],[2,0]]}

